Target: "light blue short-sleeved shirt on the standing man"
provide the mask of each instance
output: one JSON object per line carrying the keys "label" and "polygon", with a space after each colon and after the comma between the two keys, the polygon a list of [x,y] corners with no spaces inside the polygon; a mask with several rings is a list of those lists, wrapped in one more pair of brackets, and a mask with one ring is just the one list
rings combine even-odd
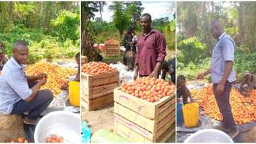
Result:
{"label": "light blue short-sleeved shirt on the standing man", "polygon": [[[214,84],[220,83],[225,70],[225,62],[235,60],[235,41],[229,35],[223,33],[217,39],[210,60],[210,76]],[[228,82],[235,81],[235,72],[232,70]]]}

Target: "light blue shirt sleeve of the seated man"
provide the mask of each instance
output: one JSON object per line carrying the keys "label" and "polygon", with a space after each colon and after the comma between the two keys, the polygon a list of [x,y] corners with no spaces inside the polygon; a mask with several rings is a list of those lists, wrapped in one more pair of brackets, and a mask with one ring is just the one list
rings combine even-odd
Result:
{"label": "light blue shirt sleeve of the seated man", "polygon": [[11,86],[12,89],[25,100],[32,94],[32,89],[29,89],[26,79],[19,71],[11,72],[7,77],[6,81]]}

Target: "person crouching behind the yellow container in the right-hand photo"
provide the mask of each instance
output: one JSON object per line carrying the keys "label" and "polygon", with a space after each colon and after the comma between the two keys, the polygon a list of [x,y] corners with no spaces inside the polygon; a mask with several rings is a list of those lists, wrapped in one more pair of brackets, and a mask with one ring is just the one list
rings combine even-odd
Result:
{"label": "person crouching behind the yellow container in the right-hand photo", "polygon": [[[178,75],[177,77],[177,98],[182,97],[183,104],[188,104],[188,98],[191,102],[193,102],[193,98],[191,96],[191,92],[188,90],[188,87],[186,87],[186,77],[183,75]],[[179,100],[177,99],[177,102]]]}

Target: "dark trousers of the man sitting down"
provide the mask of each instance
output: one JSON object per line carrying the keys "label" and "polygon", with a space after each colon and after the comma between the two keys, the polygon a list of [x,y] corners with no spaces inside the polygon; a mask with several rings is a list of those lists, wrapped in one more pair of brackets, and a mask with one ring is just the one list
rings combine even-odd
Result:
{"label": "dark trousers of the man sitting down", "polygon": [[[36,85],[37,82],[28,82],[29,88]],[[40,114],[46,110],[50,102],[53,101],[53,92],[50,90],[40,90],[30,102],[18,101],[14,104],[11,114],[22,114],[28,112],[28,118],[36,120]]]}

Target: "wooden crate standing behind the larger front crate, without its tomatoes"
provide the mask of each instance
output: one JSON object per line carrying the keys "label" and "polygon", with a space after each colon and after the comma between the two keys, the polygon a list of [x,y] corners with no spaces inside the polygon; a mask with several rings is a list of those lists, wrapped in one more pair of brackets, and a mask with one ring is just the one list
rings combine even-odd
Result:
{"label": "wooden crate standing behind the larger front crate, without its tomatoes", "polygon": [[89,111],[113,104],[113,91],[119,81],[119,72],[108,74],[81,74],[82,106]]}

